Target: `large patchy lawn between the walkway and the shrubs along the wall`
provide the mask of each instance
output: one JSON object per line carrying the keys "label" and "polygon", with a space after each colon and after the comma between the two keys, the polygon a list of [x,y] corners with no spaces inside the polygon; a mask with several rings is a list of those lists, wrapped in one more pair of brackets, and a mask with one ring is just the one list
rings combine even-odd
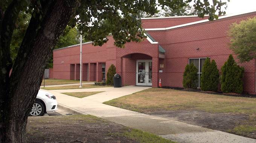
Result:
{"label": "large patchy lawn between the walkway and the shrubs along the wall", "polygon": [[150,88],[104,104],[256,139],[256,98]]}

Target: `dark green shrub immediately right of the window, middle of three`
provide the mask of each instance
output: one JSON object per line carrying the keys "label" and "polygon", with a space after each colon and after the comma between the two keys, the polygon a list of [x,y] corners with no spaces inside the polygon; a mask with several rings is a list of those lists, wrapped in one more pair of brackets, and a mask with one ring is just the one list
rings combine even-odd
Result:
{"label": "dark green shrub immediately right of the window, middle of three", "polygon": [[206,58],[200,77],[200,85],[202,91],[217,91],[219,83],[219,70],[215,60],[210,61]]}

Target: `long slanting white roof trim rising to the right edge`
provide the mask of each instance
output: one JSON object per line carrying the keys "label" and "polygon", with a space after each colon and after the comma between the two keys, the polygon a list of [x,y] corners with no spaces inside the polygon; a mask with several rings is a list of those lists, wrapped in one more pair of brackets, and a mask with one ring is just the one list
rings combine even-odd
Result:
{"label": "long slanting white roof trim rising to the right edge", "polygon": [[[256,11],[254,11],[254,12],[256,12]],[[223,15],[223,16],[220,16],[218,19],[228,18],[228,17],[232,17],[232,16],[237,16],[237,15],[243,15],[243,14],[247,14],[247,13],[252,13],[252,12],[239,13],[239,14],[230,14],[230,15]],[[214,19],[214,20],[218,20],[218,19]],[[201,20],[201,21],[190,22],[190,23],[181,24],[181,25],[176,25],[176,26],[167,27],[167,28],[145,28],[144,30],[146,30],[146,31],[169,30],[169,29],[174,29],[174,28],[178,28],[178,27],[184,27],[184,26],[188,26],[188,25],[194,25],[194,24],[199,24],[199,23],[203,23],[203,22],[208,22],[208,21],[209,21],[209,19],[205,19],[205,20]]]}

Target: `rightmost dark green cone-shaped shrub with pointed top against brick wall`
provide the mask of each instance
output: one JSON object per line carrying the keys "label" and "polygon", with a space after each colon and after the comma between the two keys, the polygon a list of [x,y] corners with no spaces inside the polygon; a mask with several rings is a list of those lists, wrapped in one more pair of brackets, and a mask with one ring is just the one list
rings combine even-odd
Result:
{"label": "rightmost dark green cone-shaped shrub with pointed top against brick wall", "polygon": [[221,90],[224,93],[239,93],[243,91],[242,77],[244,68],[239,67],[233,56],[230,54],[229,59],[221,67]]}

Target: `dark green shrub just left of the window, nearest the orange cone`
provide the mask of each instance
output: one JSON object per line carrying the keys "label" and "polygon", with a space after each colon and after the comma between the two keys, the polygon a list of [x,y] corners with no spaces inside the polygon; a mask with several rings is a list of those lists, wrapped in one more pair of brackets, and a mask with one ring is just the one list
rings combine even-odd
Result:
{"label": "dark green shrub just left of the window, nearest the orange cone", "polygon": [[197,88],[198,82],[198,69],[193,63],[187,64],[185,72],[183,74],[183,87],[184,88]]}

